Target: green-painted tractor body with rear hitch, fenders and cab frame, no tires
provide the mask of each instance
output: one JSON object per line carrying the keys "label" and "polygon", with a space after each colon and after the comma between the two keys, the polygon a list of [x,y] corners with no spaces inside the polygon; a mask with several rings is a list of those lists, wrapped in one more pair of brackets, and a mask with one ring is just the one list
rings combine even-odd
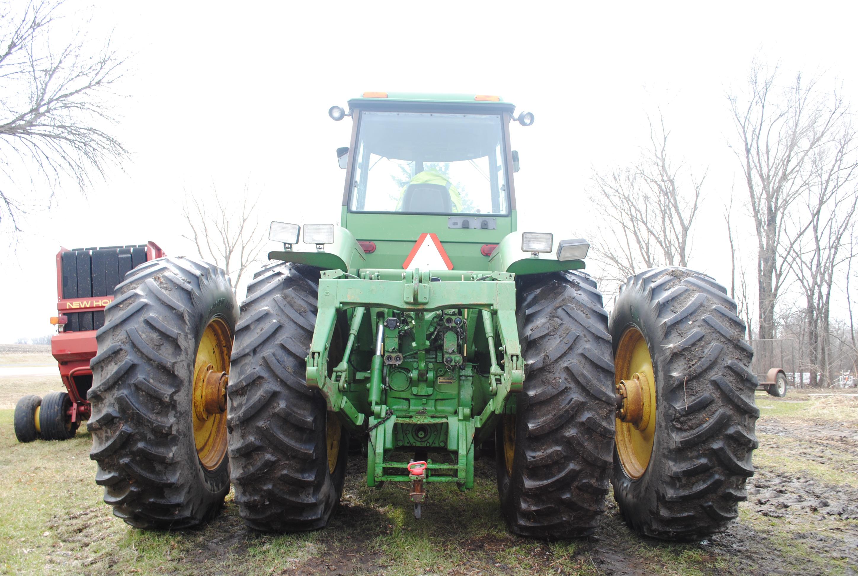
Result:
{"label": "green-painted tractor body with rear hitch, fenders and cab frame, no tires", "polygon": [[[352,118],[360,118],[361,109],[461,113],[462,118],[497,114],[503,130],[514,130],[510,125],[514,106],[502,100],[477,101],[474,94],[388,96],[349,100]],[[426,122],[435,122],[428,118]],[[496,134],[505,134],[497,130]],[[507,140],[498,138],[497,146],[489,148],[491,154],[507,159]],[[459,150],[462,154],[461,146]],[[349,166],[363,161],[362,169],[372,169],[366,168],[366,154],[362,160],[354,150],[349,154]],[[427,156],[427,165],[437,164],[438,158]],[[411,162],[413,174],[420,173],[417,163],[424,166],[416,156],[413,161],[408,156],[400,161]],[[473,486],[474,446],[492,437],[499,415],[515,413],[517,392],[522,390],[517,276],[584,267],[580,260],[560,262],[553,253],[522,252],[516,210],[493,208],[496,201],[514,206],[508,194],[511,170],[502,172],[502,165],[509,162],[491,162],[498,174],[491,180],[492,214],[353,212],[347,204],[332,244],[301,244],[269,253],[269,258],[323,270],[306,382],[322,393],[329,411],[344,426],[358,433],[370,430],[368,486],[385,480],[407,482],[403,452],[406,456],[446,452],[448,458],[428,459],[426,482],[455,482],[462,489]],[[353,173],[347,173],[346,189],[358,190],[359,182],[352,178]],[[476,225],[450,227],[451,216],[474,218]],[[403,270],[421,233],[437,235],[452,270],[414,266]],[[554,233],[553,247],[559,239],[574,236]],[[374,252],[364,252],[360,240],[372,241]],[[490,256],[482,253],[486,245],[497,246]],[[334,346],[335,337],[344,346]],[[381,354],[376,354],[379,337]]]}

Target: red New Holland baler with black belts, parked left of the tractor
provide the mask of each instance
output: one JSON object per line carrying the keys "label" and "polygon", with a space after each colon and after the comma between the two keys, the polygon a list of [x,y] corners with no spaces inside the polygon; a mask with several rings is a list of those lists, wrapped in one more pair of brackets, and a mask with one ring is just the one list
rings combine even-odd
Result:
{"label": "red New Holland baler with black belts, parked left of the tractor", "polygon": [[164,252],[154,242],[101,248],[60,248],[57,252],[57,316],[51,324],[51,355],[65,391],[44,398],[28,395],[15,406],[15,436],[20,442],[68,440],[92,413],[87,392],[93,385],[89,361],[98,349],[96,330],[105,324],[105,307],[125,274]]}

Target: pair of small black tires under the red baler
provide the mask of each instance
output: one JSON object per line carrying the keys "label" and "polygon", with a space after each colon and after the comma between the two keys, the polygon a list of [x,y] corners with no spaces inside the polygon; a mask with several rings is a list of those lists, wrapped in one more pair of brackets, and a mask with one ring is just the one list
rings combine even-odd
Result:
{"label": "pair of small black tires under the red baler", "polygon": [[15,438],[33,440],[69,440],[74,438],[80,421],[72,422],[68,392],[51,392],[44,398],[30,394],[15,405]]}

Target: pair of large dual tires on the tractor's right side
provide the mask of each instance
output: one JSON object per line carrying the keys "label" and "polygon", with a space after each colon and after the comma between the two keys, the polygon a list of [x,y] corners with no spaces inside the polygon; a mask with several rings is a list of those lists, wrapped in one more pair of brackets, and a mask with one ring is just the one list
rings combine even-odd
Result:
{"label": "pair of large dual tires on the tractor's right side", "polygon": [[[726,290],[691,270],[646,270],[620,289],[608,322],[588,276],[525,277],[518,318],[524,388],[496,432],[511,530],[591,533],[608,477],[623,518],[645,536],[726,530],[747,498],[759,415],[752,349]],[[646,379],[638,372],[652,384],[647,420],[629,423],[615,416],[615,392]]]}

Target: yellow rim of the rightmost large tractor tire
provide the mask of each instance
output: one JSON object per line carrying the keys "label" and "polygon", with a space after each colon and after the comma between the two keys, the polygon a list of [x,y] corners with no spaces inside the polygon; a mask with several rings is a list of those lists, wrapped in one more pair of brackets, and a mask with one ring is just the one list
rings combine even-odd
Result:
{"label": "yellow rim of the rightmost large tractor tire", "polygon": [[631,327],[619,338],[614,359],[624,409],[616,422],[619,462],[632,480],[644,476],[656,438],[656,375],[644,335]]}

